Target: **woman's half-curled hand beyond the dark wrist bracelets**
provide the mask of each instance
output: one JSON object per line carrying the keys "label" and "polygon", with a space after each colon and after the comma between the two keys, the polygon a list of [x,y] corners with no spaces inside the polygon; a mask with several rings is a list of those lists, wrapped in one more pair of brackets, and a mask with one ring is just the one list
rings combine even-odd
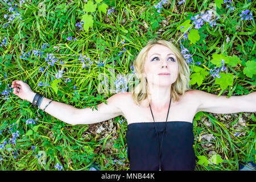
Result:
{"label": "woman's half-curled hand beyond the dark wrist bracelets", "polygon": [[[31,101],[32,96],[35,93],[31,90],[30,86],[21,80],[15,80],[11,83],[11,88],[13,89],[13,93],[20,97],[22,100]],[[18,92],[19,89],[19,92]],[[34,98],[34,97],[33,97]]]}

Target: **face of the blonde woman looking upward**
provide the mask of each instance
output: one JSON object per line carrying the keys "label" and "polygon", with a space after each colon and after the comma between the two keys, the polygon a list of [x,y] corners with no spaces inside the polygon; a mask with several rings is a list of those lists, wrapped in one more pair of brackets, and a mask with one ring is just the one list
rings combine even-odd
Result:
{"label": "face of the blonde woman looking upward", "polygon": [[178,71],[177,57],[168,47],[155,44],[147,52],[143,75],[146,76],[148,84],[170,86],[176,81]]}

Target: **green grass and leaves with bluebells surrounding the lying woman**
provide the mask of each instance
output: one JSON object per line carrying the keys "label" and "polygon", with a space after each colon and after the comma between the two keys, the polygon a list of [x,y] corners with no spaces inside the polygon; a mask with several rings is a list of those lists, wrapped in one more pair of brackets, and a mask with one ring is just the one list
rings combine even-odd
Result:
{"label": "green grass and leaves with bluebells surrounding the lying woman", "polygon": [[[15,96],[14,80],[54,101],[97,109],[136,84],[135,56],[161,38],[180,48],[192,89],[255,92],[255,1],[0,0],[0,7],[1,170],[129,169],[125,118],[68,125]],[[255,163],[255,114],[197,113],[196,170]]]}

